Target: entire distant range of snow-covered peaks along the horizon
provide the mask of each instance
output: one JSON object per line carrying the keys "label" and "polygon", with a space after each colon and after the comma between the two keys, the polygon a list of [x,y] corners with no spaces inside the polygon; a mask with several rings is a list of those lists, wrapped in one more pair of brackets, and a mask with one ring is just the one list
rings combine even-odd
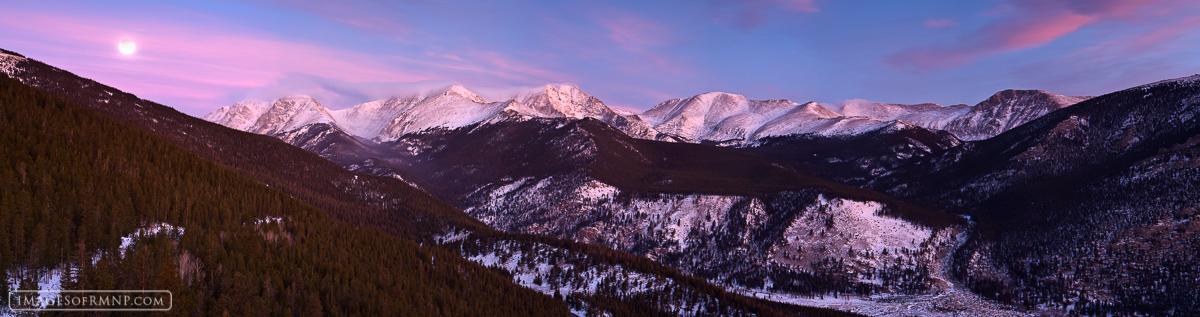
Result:
{"label": "entire distant range of snow-covered peaks along the horizon", "polygon": [[488,102],[461,85],[451,85],[340,110],[330,110],[308,96],[288,96],[274,102],[242,101],[222,107],[204,119],[259,134],[284,133],[324,122],[378,142],[509,116],[593,118],[636,138],[722,145],[749,145],[767,137],[794,134],[854,136],[906,125],[978,140],[1084,100],[1087,97],[1040,90],[1004,90],[974,107],[852,102],[845,104],[841,109],[845,114],[840,114],[816,102],[755,101],[742,95],[707,92],[668,100],[641,114],[622,114],[569,84],[546,85],[498,102]]}

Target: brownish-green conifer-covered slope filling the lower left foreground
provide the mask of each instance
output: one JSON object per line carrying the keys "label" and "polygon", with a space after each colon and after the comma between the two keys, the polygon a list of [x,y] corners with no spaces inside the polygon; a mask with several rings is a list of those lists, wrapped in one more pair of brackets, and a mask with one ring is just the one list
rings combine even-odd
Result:
{"label": "brownish-green conifer-covered slope filling the lower left foreground", "polygon": [[[154,227],[178,227],[134,239]],[[150,232],[150,231],[142,231]],[[174,315],[563,316],[461,257],[344,225],[107,115],[0,78],[0,281],[170,289]]]}

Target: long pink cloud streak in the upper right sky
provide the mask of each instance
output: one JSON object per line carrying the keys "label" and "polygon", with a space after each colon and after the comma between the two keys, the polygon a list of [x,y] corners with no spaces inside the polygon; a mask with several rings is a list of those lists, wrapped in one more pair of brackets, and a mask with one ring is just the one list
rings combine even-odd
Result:
{"label": "long pink cloud streak in the upper right sky", "polygon": [[[1015,0],[989,10],[1000,20],[950,43],[913,47],[892,54],[884,62],[894,68],[955,67],[980,59],[1037,48],[1088,25],[1110,20],[1138,20],[1160,14],[1174,0]],[[1001,10],[1002,8],[1002,10]],[[1156,13],[1159,12],[1159,13]],[[926,20],[940,28],[942,20]]]}

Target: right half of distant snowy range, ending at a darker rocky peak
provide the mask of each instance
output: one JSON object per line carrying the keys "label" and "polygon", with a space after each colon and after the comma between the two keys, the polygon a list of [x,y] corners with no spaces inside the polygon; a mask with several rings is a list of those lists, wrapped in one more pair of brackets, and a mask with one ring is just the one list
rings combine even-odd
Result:
{"label": "right half of distant snowy range, ending at a darker rocky peak", "polygon": [[659,132],[682,140],[726,145],[748,145],[778,136],[854,136],[898,122],[978,140],[1084,100],[1087,97],[1040,90],[1004,90],[974,107],[851,101],[838,113],[816,102],[757,101],[742,95],[707,92],[659,103],[641,118]]}

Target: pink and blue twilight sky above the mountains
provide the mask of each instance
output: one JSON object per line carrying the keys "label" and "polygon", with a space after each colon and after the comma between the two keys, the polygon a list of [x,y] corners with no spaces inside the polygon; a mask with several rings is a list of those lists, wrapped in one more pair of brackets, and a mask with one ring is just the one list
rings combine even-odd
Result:
{"label": "pink and blue twilight sky above the mountains", "polygon": [[450,84],[500,101],[571,83],[635,112],[708,91],[974,104],[1200,73],[1194,0],[50,0],[0,16],[0,48],[192,115]]}

